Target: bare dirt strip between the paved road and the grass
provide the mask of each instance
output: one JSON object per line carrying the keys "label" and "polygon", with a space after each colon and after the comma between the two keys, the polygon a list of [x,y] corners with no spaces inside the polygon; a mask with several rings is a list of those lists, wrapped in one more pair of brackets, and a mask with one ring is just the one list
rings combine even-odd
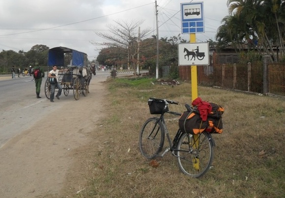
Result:
{"label": "bare dirt strip between the paved road and the grass", "polygon": [[66,189],[74,195],[82,190],[82,158],[104,117],[104,80],[94,76],[87,97],[60,100],[56,114],[47,114],[0,148],[1,198],[59,198],[67,197]]}

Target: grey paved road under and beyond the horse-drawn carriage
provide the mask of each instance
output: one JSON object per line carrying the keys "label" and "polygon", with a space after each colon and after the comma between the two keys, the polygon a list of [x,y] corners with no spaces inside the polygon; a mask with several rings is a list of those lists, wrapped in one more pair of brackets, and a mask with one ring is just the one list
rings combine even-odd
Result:
{"label": "grey paved road under and beyond the horse-drawn carriage", "polygon": [[[119,73],[126,75],[132,73]],[[97,76],[110,76],[109,72],[97,72]],[[96,76],[94,76],[96,77]],[[75,100],[73,92],[64,100],[56,100],[51,103],[45,97],[43,78],[41,86],[41,99],[36,99],[35,83],[32,76],[16,77],[15,79],[0,80],[0,148],[12,137],[20,134],[29,127],[36,127],[34,124],[41,119],[43,115],[54,112],[61,105],[62,101]],[[80,102],[80,100],[78,100]],[[49,122],[48,120],[46,122]]]}

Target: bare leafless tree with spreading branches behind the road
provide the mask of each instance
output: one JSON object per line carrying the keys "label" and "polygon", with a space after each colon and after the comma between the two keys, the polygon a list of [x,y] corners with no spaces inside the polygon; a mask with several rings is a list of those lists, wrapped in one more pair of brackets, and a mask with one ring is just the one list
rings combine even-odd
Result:
{"label": "bare leafless tree with spreading branches behind the road", "polygon": [[[112,48],[119,48],[121,56],[128,58],[128,64],[136,62],[135,58],[138,51],[139,42],[148,35],[150,28],[140,31],[140,41],[138,41],[138,31],[143,21],[114,21],[115,25],[107,25],[108,33],[95,32],[101,38],[109,42],[97,43],[91,42],[93,45],[101,45]],[[114,57],[117,58],[117,57]]]}

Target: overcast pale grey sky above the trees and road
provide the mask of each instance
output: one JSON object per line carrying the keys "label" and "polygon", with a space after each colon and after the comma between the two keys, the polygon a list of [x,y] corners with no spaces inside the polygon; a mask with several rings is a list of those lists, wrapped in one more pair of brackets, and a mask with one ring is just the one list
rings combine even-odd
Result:
{"label": "overcast pale grey sky above the trees and road", "polygon": [[[181,33],[181,3],[203,2],[204,33],[197,42],[215,40],[228,15],[227,0],[157,0],[159,38]],[[67,47],[97,57],[104,42],[95,32],[108,32],[114,21],[143,20],[141,29],[156,35],[155,0],[0,0],[0,51],[28,51],[34,45]],[[139,31],[139,30],[138,30]],[[189,34],[182,37],[189,40]]]}

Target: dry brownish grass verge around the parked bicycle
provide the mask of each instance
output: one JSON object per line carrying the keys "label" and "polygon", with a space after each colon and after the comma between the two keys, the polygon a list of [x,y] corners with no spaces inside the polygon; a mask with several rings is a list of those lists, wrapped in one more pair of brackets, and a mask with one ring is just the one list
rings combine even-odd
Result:
{"label": "dry brownish grass verge around the parked bicycle", "polygon": [[[153,79],[152,79],[153,80]],[[151,84],[150,79],[107,82],[108,117],[98,123],[85,161],[85,190],[79,198],[282,198],[285,196],[285,99],[199,87],[199,97],[225,108],[224,133],[213,134],[213,168],[199,179],[179,172],[176,158],[148,165],[139,150],[143,122],[151,117],[149,97],[191,103],[191,84]],[[174,135],[177,117],[167,117]],[[166,142],[167,143],[167,142]],[[264,150],[265,154],[259,155]]]}

